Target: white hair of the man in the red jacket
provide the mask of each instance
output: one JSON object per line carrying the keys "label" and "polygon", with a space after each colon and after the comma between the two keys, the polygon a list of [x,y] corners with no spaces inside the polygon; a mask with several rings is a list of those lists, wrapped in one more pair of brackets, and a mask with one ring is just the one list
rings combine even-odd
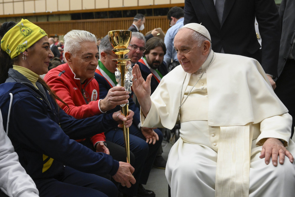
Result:
{"label": "white hair of the man in the red jacket", "polygon": [[96,43],[96,36],[88,31],[84,30],[71,30],[69,31],[63,39],[64,52],[70,52],[73,57],[76,57],[78,51],[81,50],[81,43],[84,42],[94,42]]}

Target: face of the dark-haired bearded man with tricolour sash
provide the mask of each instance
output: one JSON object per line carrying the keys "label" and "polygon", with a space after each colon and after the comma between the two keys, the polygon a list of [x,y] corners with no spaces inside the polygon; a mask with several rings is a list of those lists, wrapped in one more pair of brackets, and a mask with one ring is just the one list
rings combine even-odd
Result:
{"label": "face of the dark-haired bearded man with tricolour sash", "polygon": [[149,54],[145,55],[148,65],[152,69],[158,69],[160,64],[162,64],[164,59],[164,51],[163,48],[160,46],[155,47],[154,49],[150,50]]}

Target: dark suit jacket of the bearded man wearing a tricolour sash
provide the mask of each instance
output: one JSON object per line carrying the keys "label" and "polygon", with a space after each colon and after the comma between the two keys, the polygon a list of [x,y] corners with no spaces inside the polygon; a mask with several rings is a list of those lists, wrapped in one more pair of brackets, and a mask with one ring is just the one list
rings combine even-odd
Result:
{"label": "dark suit jacket of the bearded man wearing a tricolour sash", "polygon": [[[143,79],[147,79],[148,75],[151,74],[152,72],[150,71],[150,69],[145,66],[144,64],[142,64],[141,62],[137,62],[136,64],[138,64],[142,78]],[[165,76],[166,74],[168,74],[168,70],[167,70],[167,66],[166,63],[163,61],[163,63],[160,65],[158,71]],[[155,89],[158,87],[159,83],[158,81],[155,79],[154,76],[152,76],[151,80],[150,80],[150,89],[151,89],[151,94],[153,94],[153,92],[155,91]]]}

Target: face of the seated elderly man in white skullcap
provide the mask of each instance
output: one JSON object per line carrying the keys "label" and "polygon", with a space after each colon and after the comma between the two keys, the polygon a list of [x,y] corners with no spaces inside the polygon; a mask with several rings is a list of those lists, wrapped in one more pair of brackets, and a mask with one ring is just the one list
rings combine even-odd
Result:
{"label": "face of the seated elderly man in white skullcap", "polygon": [[191,38],[194,30],[189,28],[181,29],[174,38],[174,48],[177,58],[183,70],[187,73],[194,73],[202,66],[206,60],[203,55],[203,45],[198,46],[198,42]]}

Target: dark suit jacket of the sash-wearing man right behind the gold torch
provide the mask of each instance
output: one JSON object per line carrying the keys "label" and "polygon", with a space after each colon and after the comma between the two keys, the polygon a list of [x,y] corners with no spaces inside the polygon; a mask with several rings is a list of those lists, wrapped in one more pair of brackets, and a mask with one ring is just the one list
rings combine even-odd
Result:
{"label": "dark suit jacket of the sash-wearing man right behind the gold torch", "polygon": [[[95,77],[96,81],[99,84],[99,99],[104,99],[106,97],[106,95],[108,94],[109,89],[111,89],[111,86],[106,81],[106,79],[103,76],[101,76],[100,74],[95,73],[94,77]],[[132,95],[133,95],[133,92],[131,94],[129,94],[129,96],[130,96],[129,99],[128,99],[129,100],[129,109],[134,112],[133,123],[137,127],[137,125],[140,123],[140,111],[137,108],[137,106],[135,105],[135,103],[133,102]],[[113,112],[119,111],[120,109],[121,108],[118,105],[114,109],[109,110],[107,113],[113,113]]]}

